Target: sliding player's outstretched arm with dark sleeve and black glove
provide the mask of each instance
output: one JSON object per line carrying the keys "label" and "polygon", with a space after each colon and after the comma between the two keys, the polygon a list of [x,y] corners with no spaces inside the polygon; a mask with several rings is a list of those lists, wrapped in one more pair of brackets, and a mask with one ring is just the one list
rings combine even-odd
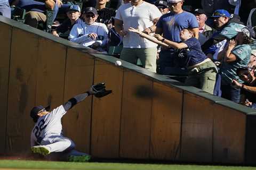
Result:
{"label": "sliding player's outstretched arm with dark sleeve and black glove", "polygon": [[83,101],[86,97],[94,95],[95,97],[103,97],[111,94],[112,90],[105,89],[105,83],[98,83],[92,85],[91,88],[83,94],[76,95],[75,97],[69,99],[67,103],[63,104],[65,111],[68,111],[70,108],[75,106],[77,103]]}

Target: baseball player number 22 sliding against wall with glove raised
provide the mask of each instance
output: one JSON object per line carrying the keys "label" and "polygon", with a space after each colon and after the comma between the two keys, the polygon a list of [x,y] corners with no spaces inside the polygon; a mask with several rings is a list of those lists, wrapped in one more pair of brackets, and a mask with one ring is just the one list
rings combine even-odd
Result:
{"label": "baseball player number 22 sliding against wall with glove raised", "polygon": [[111,90],[105,89],[105,83],[99,83],[80,95],[67,101],[67,103],[54,108],[48,112],[49,107],[36,106],[31,109],[30,117],[33,118],[35,126],[31,132],[30,144],[34,153],[44,156],[53,152],[61,153],[61,159],[71,162],[87,162],[91,156],[75,150],[75,143],[63,136],[61,118],[67,111],[86,97],[94,95],[103,97],[110,94]]}

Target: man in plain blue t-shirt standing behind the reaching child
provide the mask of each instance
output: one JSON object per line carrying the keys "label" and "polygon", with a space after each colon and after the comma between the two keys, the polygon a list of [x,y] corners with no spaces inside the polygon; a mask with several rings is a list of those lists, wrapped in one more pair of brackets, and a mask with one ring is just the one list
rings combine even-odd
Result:
{"label": "man in plain blue t-shirt standing behind the reaching child", "polygon": [[[182,10],[183,0],[167,0],[170,13],[161,16],[156,25],[156,34],[163,35],[165,39],[180,42],[180,31],[191,28],[198,38],[198,23],[196,16]],[[159,53],[160,74],[179,74],[180,69],[175,69],[173,62],[174,49],[162,48]],[[186,73],[185,73],[186,74]]]}

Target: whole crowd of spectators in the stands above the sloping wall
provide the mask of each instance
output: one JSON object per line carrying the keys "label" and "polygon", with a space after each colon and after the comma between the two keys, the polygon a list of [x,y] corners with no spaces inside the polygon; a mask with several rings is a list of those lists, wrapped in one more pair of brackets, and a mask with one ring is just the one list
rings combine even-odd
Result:
{"label": "whole crowd of spectators in the stands above the sloping wall", "polygon": [[256,1],[0,0],[0,14],[11,18],[12,5],[31,27],[50,20],[54,36],[101,53],[122,47],[124,61],[256,107]]}

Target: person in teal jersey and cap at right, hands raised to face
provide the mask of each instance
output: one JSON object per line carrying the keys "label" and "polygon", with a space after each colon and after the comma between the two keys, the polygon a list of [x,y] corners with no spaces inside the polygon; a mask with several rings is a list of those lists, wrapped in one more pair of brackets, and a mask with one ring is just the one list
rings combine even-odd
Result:
{"label": "person in teal jersey and cap at right, hands raised to face", "polygon": [[255,32],[251,28],[236,29],[239,32],[235,39],[228,42],[226,48],[219,53],[218,60],[222,60],[221,66],[221,97],[232,100],[236,103],[240,101],[240,89],[232,86],[235,79],[243,83],[236,74],[240,67],[245,67],[250,61],[252,37]]}

